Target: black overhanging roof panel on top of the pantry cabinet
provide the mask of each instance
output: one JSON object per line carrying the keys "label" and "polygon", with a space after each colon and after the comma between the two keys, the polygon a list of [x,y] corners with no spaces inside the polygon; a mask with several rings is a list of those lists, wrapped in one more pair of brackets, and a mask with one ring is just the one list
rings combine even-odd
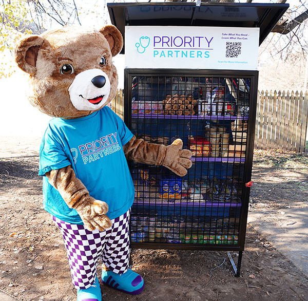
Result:
{"label": "black overhanging roof panel on top of the pantry cabinet", "polygon": [[[259,45],[288,4],[268,3],[108,3],[111,23],[125,37],[125,26],[259,27]],[[124,53],[124,47],[122,52]]]}

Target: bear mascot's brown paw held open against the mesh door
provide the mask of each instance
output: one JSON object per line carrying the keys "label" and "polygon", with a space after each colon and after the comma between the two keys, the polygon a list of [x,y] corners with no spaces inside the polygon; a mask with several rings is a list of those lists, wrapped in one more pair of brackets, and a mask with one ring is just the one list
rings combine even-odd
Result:
{"label": "bear mascot's brown paw held open against the mesh door", "polygon": [[163,165],[180,177],[185,176],[187,169],[192,165],[190,160],[192,153],[189,149],[182,149],[182,147],[182,140],[176,139],[171,145],[166,147],[165,158],[163,160]]}

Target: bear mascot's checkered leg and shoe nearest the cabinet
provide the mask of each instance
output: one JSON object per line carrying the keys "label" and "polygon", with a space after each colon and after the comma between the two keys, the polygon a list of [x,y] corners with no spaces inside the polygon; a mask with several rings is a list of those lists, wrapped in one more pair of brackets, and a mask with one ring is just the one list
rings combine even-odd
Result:
{"label": "bear mascot's checkered leg and shoe nearest the cabinet", "polygon": [[112,234],[102,255],[103,284],[121,292],[137,295],[144,288],[143,278],[129,267],[129,214],[130,210],[112,220]]}

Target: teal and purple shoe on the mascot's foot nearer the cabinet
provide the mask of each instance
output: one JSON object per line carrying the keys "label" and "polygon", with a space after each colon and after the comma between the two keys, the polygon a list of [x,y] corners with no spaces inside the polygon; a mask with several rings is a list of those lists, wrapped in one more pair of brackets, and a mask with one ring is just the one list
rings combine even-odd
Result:
{"label": "teal and purple shoe on the mascot's foot nearer the cabinet", "polygon": [[102,271],[103,284],[130,295],[138,295],[143,291],[143,278],[128,269],[124,274],[116,274],[112,271]]}

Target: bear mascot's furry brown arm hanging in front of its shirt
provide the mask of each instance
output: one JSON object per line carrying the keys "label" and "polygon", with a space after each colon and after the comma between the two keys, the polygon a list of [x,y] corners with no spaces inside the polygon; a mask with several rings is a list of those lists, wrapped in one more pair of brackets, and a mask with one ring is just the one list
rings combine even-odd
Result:
{"label": "bear mascot's furry brown arm hanging in front of its shirt", "polygon": [[104,231],[111,227],[110,219],[105,215],[108,205],[89,195],[85,185],[78,179],[71,165],[46,173],[49,183],[59,191],[69,208],[75,209],[86,228]]}

